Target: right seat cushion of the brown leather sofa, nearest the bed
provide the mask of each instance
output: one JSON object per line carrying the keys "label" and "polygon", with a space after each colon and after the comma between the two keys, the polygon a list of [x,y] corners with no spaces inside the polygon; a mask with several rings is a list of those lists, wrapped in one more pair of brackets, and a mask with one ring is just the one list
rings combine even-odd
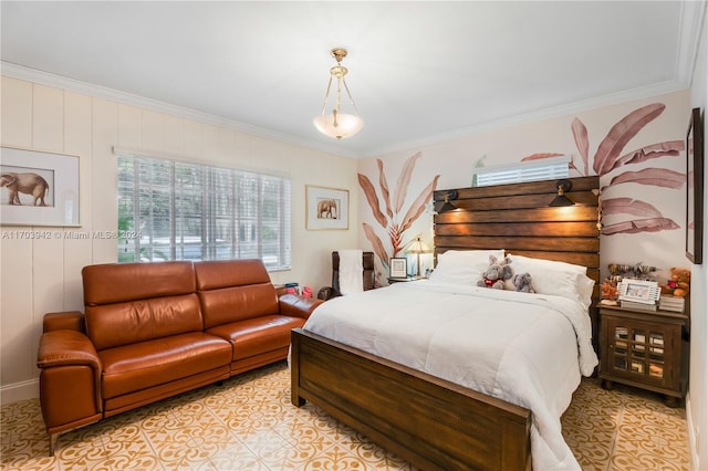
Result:
{"label": "right seat cushion of the brown leather sofa, nearest the bed", "polygon": [[290,331],[302,327],[303,317],[268,315],[209,328],[207,333],[233,344],[236,362],[290,346]]}

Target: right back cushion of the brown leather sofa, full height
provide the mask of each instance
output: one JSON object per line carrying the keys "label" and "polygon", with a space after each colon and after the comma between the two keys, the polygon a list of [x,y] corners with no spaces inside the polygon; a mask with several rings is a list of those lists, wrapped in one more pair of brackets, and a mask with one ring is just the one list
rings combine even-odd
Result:
{"label": "right back cushion of the brown leather sofa, full height", "polygon": [[195,262],[205,328],[278,314],[275,287],[258,259]]}

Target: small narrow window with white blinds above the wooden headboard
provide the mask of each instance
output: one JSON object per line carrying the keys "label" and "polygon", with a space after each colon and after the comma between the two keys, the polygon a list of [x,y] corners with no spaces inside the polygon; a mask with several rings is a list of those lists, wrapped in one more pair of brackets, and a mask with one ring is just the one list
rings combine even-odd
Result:
{"label": "small narrow window with white blinds above the wooden headboard", "polygon": [[479,167],[473,170],[472,187],[568,178],[570,161],[570,156],[561,156],[497,167]]}

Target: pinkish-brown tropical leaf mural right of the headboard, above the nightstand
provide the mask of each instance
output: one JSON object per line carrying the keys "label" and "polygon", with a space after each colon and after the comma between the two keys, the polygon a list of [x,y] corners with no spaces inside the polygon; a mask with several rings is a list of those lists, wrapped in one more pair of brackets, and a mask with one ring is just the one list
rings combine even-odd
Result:
{"label": "pinkish-brown tropical leaf mural right of the headboard, above the nightstand", "polygon": [[[679,189],[686,184],[686,176],[681,172],[660,167],[647,167],[639,170],[625,170],[628,165],[644,164],[658,158],[676,158],[685,149],[683,140],[669,140],[625,153],[626,145],[649,124],[664,113],[666,105],[652,103],[627,114],[620,119],[597,146],[592,160],[594,175],[610,178],[610,174],[618,172],[610,178],[610,182],[601,189],[604,193],[610,188],[623,184],[637,184],[654,187]],[[571,132],[577,147],[582,167],[571,163],[571,169],[582,176],[590,174],[590,139],[587,128],[574,118]],[[522,160],[551,157],[560,154],[534,154]],[[606,180],[606,178],[605,178]],[[626,216],[627,220],[606,224],[602,229],[605,236],[617,233],[656,232],[679,229],[670,218],[664,217],[654,206],[639,199],[614,197],[602,199],[603,216]]]}

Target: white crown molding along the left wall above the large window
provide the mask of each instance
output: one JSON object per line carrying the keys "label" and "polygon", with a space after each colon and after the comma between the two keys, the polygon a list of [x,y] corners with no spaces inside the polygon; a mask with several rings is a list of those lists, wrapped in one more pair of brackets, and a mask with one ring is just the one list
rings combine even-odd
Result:
{"label": "white crown molding along the left wall above the large window", "polygon": [[215,126],[221,126],[229,129],[238,130],[253,136],[263,137],[267,139],[277,140],[280,143],[292,144],[295,146],[312,148],[322,150],[327,154],[334,154],[341,157],[357,158],[358,154],[347,151],[341,147],[331,146],[314,140],[301,139],[288,134],[277,133],[271,129],[249,125],[246,123],[237,122],[233,119],[227,119],[221,116],[211,115],[196,109],[186,108],[183,106],[171,105],[169,103],[159,102],[157,100],[146,98],[144,96],[134,95],[127,92],[121,92],[118,90],[108,88],[101,85],[95,85],[87,82],[69,78],[61,75],[55,75],[49,72],[39,71],[37,69],[25,67],[23,65],[13,64],[6,61],[0,61],[0,73],[4,76],[24,80],[28,82],[38,83],[41,85],[52,86],[55,88],[66,90],[74,93],[84,95],[91,95],[97,98],[107,100],[125,105],[137,106],[144,109],[148,109],[157,113],[165,113],[173,116],[178,116],[185,119],[191,119],[205,124],[211,124]]}

